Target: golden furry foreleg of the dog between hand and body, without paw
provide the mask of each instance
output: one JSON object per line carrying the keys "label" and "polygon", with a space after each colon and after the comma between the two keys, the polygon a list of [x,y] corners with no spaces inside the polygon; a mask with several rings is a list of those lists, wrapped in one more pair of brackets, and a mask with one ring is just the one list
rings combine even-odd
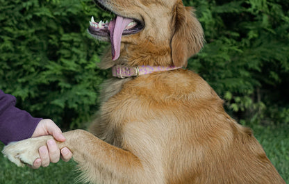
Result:
{"label": "golden furry foreleg of the dog between hand and body, without paw", "polygon": [[[83,178],[92,183],[140,183],[144,171],[138,157],[82,130],[64,133],[68,147],[83,171]],[[142,182],[141,182],[142,183]],[[147,182],[143,182],[144,184]]]}

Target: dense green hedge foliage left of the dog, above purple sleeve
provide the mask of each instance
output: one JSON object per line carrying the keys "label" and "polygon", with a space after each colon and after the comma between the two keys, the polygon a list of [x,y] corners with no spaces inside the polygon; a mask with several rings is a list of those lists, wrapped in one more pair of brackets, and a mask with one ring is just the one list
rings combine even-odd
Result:
{"label": "dense green hedge foliage left of the dog, above purple sleeve", "polygon": [[70,128],[88,121],[105,73],[96,66],[104,44],[86,29],[91,15],[108,15],[88,0],[0,3],[0,89],[34,116]]}

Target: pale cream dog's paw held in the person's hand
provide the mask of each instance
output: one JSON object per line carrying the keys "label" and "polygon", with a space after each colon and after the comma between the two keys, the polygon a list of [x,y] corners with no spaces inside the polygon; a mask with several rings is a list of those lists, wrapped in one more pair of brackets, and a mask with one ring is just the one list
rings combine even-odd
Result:
{"label": "pale cream dog's paw held in the person's hand", "polygon": [[51,136],[35,137],[19,142],[11,142],[4,147],[2,153],[11,162],[14,162],[19,167],[24,165],[33,165],[33,162],[40,158],[38,149],[47,144],[47,140]]}

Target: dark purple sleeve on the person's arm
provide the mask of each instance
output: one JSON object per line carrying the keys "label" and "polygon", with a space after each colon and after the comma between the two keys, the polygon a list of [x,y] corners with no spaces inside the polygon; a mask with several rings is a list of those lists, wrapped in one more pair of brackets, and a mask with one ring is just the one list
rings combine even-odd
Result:
{"label": "dark purple sleeve on the person's arm", "polygon": [[4,144],[33,135],[41,118],[15,107],[16,98],[0,90],[0,141]]}

